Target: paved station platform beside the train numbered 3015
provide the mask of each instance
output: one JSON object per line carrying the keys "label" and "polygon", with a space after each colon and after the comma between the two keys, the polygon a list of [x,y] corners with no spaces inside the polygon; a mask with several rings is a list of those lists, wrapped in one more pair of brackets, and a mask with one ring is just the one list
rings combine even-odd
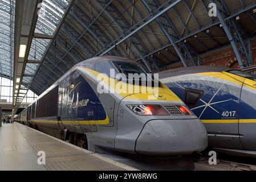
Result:
{"label": "paved station platform beside the train numbered 3015", "polygon": [[[38,151],[45,152],[46,164],[38,164]],[[0,127],[0,170],[129,171],[136,168],[14,122]]]}

